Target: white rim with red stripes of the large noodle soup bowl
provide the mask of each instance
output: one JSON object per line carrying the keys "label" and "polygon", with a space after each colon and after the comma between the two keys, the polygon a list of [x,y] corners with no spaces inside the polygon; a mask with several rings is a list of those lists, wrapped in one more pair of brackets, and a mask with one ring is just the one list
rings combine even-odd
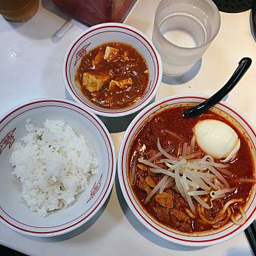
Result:
{"label": "white rim with red stripes of the large noodle soup bowl", "polygon": [[[226,240],[229,240],[230,238],[233,238],[235,235],[238,235],[238,233],[244,231],[248,225],[255,220],[256,217],[256,193],[254,194],[253,198],[251,198],[251,204],[247,209],[247,212],[250,212],[249,216],[247,216],[246,222],[244,225],[241,226],[235,226],[235,225],[229,225],[230,227],[227,227],[227,229],[223,231],[219,231],[217,233],[209,234],[209,235],[201,235],[199,236],[190,236],[190,235],[181,235],[179,233],[175,233],[175,231],[169,231],[167,229],[164,229],[164,227],[160,227],[157,225],[155,221],[153,221],[151,218],[146,216],[140,205],[137,203],[136,199],[134,199],[133,194],[131,193],[131,190],[129,188],[129,183],[127,179],[127,172],[126,172],[126,156],[127,156],[127,149],[129,148],[129,143],[131,142],[131,138],[133,137],[133,134],[136,133],[136,129],[140,126],[140,124],[145,120],[145,116],[147,114],[153,114],[155,110],[157,110],[157,107],[160,105],[172,105],[175,101],[179,101],[180,103],[190,103],[190,102],[202,102],[207,97],[201,94],[179,94],[174,95],[172,97],[166,97],[165,99],[159,100],[148,107],[146,107],[136,118],[133,119],[129,127],[127,128],[127,131],[125,133],[125,136],[123,137],[123,140],[120,145],[120,151],[118,154],[118,179],[120,182],[120,188],[123,192],[123,196],[125,197],[125,201],[129,205],[129,208],[133,212],[133,214],[142,222],[142,225],[144,225],[147,229],[150,231],[153,231],[156,235],[159,235],[161,238],[164,238],[165,240],[169,240],[171,242],[175,242],[177,244],[182,244],[186,246],[209,246],[213,244],[218,244],[220,242],[224,242]],[[177,103],[175,103],[177,104]],[[235,108],[228,103],[220,102],[216,107],[221,107],[222,111],[225,109],[227,112],[232,112],[234,116],[242,120],[244,125],[246,125],[247,131],[250,132],[250,137],[253,141],[255,151],[256,151],[256,137],[255,137],[255,127],[244,118],[244,115],[242,115],[238,110],[235,110]],[[255,187],[255,186],[254,186]]]}

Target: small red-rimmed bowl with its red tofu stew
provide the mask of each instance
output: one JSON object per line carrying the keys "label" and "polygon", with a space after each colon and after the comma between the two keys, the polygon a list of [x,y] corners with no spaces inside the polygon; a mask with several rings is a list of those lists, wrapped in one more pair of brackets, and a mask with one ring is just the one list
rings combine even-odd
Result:
{"label": "small red-rimmed bowl with its red tofu stew", "polygon": [[75,101],[99,116],[127,116],[153,101],[162,80],[162,61],[138,29],[103,23],[71,43],[62,71]]}

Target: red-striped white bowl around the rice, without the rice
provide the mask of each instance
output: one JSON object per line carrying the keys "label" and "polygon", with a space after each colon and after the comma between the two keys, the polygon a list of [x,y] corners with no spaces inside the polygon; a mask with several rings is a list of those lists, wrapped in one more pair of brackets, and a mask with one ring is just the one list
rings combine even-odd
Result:
{"label": "red-striped white bowl around the rice, without the rice", "polygon": [[[10,165],[14,143],[27,134],[28,119],[37,127],[47,119],[64,120],[88,139],[99,163],[97,174],[92,175],[88,188],[76,201],[45,217],[31,212],[23,201],[21,181]],[[0,165],[0,222],[25,235],[49,237],[73,231],[97,214],[112,189],[116,156],[110,133],[92,112],[73,101],[40,99],[19,105],[0,118]]]}

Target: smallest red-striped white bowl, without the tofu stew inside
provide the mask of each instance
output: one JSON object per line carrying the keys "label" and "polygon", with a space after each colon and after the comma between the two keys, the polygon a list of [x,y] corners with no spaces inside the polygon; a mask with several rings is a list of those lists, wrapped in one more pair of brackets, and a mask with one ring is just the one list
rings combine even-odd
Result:
{"label": "smallest red-striped white bowl, without the tofu stew inside", "polygon": [[[131,45],[144,57],[149,71],[149,82],[142,97],[133,105],[123,109],[105,109],[90,101],[75,83],[77,68],[81,57],[88,51],[108,42],[121,42]],[[66,90],[72,99],[90,108],[94,114],[107,117],[128,116],[142,110],[153,101],[162,80],[162,60],[153,42],[135,27],[122,23],[103,23],[86,29],[68,47],[64,57],[62,77]]]}

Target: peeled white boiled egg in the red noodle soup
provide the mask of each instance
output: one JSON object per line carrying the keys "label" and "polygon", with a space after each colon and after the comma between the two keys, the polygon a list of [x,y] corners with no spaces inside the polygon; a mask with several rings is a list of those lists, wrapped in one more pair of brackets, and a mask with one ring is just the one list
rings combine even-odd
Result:
{"label": "peeled white boiled egg in the red noodle soup", "polygon": [[226,123],[206,119],[194,126],[196,144],[207,155],[229,162],[240,149],[238,134]]}

